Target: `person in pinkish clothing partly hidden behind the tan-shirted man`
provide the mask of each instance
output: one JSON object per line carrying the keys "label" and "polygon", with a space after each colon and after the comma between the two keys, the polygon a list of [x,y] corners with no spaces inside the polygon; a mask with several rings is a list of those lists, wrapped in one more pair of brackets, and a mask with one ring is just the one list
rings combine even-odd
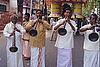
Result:
{"label": "person in pinkish clothing partly hidden behind the tan-shirted man", "polygon": [[[23,26],[25,27],[29,22],[32,22],[30,20],[30,14],[25,13]],[[23,56],[24,56],[25,60],[30,59],[29,37],[30,37],[30,35],[27,32],[24,33],[24,35],[23,35]]]}

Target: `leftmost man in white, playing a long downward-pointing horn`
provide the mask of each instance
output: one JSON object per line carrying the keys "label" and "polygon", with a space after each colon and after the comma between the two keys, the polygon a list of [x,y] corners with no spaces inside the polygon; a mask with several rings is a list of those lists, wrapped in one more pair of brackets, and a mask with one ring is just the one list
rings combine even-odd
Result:
{"label": "leftmost man in white, playing a long downward-pointing horn", "polygon": [[[18,17],[14,14],[11,17],[11,22],[6,24],[3,34],[6,37],[7,45],[7,67],[23,67],[22,60],[22,34],[25,33],[25,29],[18,24]],[[15,43],[15,44],[14,44]],[[16,46],[17,52],[11,52],[10,47]]]}

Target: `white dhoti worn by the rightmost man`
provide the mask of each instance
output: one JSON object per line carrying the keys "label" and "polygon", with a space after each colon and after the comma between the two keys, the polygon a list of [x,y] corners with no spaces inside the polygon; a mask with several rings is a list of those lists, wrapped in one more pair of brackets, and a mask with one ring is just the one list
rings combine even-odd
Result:
{"label": "white dhoti worn by the rightmost man", "polygon": [[84,67],[99,67],[99,51],[84,50]]}

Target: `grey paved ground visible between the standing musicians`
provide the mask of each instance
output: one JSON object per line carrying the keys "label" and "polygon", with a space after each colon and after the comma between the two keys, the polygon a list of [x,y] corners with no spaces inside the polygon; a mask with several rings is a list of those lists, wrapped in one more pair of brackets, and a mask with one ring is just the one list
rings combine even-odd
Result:
{"label": "grey paved ground visible between the standing musicians", "polygon": [[[83,65],[83,36],[75,36],[75,48],[73,49],[73,67],[82,67]],[[46,37],[46,67],[56,67],[57,49],[54,47],[54,41],[50,41],[50,31]],[[5,39],[0,37],[0,67],[6,67]],[[30,61],[24,60],[24,67],[29,67]]]}

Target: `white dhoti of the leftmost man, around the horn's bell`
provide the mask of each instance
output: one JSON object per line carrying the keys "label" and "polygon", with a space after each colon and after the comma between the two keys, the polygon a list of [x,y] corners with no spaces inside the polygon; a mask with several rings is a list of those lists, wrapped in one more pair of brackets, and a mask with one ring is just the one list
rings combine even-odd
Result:
{"label": "white dhoti of the leftmost man, around the horn's bell", "polygon": [[9,42],[7,44],[7,67],[23,67],[22,44],[16,44],[17,52],[10,52],[9,48],[12,44],[9,44]]}

